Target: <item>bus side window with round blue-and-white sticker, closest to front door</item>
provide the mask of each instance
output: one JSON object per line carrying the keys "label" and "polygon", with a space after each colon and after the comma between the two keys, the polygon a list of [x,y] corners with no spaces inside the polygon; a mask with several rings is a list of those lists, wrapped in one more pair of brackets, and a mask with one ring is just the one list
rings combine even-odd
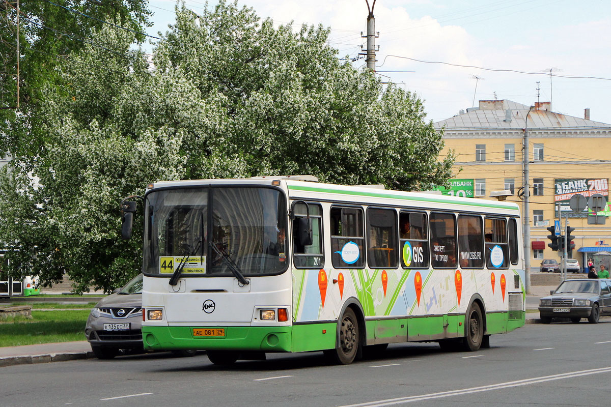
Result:
{"label": "bus side window with round blue-and-white sticker, closest to front door", "polygon": [[365,266],[363,210],[360,207],[332,206],[331,262],[335,268]]}

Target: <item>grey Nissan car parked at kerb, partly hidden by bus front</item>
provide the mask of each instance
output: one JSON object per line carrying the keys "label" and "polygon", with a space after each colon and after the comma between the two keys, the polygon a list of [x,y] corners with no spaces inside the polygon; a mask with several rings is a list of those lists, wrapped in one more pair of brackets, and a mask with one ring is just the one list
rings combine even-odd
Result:
{"label": "grey Nissan car parked at kerb, partly hidden by bus front", "polygon": [[[142,274],[108,297],[89,313],[85,336],[98,359],[112,359],[120,352],[138,353],[142,347]],[[193,356],[194,350],[173,351],[176,356]]]}

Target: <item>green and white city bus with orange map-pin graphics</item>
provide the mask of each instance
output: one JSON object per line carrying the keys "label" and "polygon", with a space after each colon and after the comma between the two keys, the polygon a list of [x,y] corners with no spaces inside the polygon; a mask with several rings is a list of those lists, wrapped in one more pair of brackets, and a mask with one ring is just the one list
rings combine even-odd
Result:
{"label": "green and white city bus with orange map-pin graphics", "polygon": [[524,325],[515,203],[315,181],[149,184],[144,347],[207,350],[216,364],[301,351],[348,364],[398,342],[478,350]]}

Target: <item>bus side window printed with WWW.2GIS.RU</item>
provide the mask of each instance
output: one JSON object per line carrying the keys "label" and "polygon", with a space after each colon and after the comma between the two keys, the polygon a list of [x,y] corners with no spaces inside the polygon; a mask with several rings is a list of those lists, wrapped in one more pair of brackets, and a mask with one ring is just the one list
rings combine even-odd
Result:
{"label": "bus side window printed with WWW.2GIS.RU", "polygon": [[484,236],[478,215],[458,215],[458,262],[463,268],[484,267]]}

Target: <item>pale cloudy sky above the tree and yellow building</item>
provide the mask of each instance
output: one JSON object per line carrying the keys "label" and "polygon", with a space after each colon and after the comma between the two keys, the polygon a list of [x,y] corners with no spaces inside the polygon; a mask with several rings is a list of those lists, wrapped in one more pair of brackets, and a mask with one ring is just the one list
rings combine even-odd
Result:
{"label": "pale cloudy sky above the tree and yellow building", "polygon": [[[154,25],[147,32],[165,33],[176,2],[149,1]],[[206,7],[205,0],[185,4],[196,13]],[[239,4],[276,26],[331,27],[338,58],[355,59],[366,48],[365,0]],[[419,96],[427,120],[450,118],[479,100],[510,99],[527,106],[551,101],[554,112],[582,118],[589,108],[591,120],[611,124],[609,0],[375,0],[373,7],[376,72]],[[365,66],[364,59],[352,63]]]}

